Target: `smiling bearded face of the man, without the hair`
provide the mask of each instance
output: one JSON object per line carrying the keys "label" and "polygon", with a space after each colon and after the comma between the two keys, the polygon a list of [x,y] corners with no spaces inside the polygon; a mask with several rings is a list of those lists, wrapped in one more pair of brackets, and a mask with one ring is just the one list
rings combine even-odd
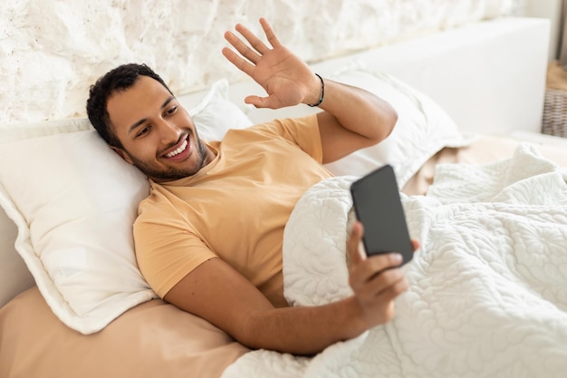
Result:
{"label": "smiling bearded face of the man, without the hair", "polygon": [[113,149],[150,179],[181,179],[197,173],[214,158],[199,140],[187,111],[161,83],[148,76],[139,76],[129,89],[113,93],[107,109],[123,146]]}

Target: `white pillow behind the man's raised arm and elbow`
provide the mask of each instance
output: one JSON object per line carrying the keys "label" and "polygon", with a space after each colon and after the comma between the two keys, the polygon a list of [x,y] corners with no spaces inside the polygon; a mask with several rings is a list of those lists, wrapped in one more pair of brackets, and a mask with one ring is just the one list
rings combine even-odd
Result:
{"label": "white pillow behind the man's raised arm and elbow", "polygon": [[386,140],[326,165],[337,176],[362,176],[389,163],[402,188],[437,151],[474,141],[462,135],[447,112],[426,94],[387,73],[358,70],[338,73],[332,79],[375,93],[398,111],[396,127]]}

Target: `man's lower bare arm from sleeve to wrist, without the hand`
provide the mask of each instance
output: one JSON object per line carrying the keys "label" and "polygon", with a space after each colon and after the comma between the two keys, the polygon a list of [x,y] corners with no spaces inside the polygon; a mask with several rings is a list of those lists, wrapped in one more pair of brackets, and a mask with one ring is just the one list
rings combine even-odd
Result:
{"label": "man's lower bare arm from sleeve to wrist, without the hand", "polygon": [[[387,321],[380,316],[365,317],[368,313],[356,296],[329,305],[274,308],[220,258],[195,268],[164,299],[207,319],[250,348],[292,354],[321,352],[330,344],[361,334],[370,325]],[[372,296],[375,299],[381,302]]]}

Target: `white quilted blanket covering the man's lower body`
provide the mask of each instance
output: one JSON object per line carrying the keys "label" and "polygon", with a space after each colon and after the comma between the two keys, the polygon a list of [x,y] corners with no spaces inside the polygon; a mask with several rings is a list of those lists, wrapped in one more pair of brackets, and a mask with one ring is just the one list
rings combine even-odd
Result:
{"label": "white quilted blanket covering the man's lower body", "polygon": [[[223,378],[567,376],[566,176],[529,145],[491,165],[439,167],[427,197],[403,198],[422,247],[393,321],[313,358],[245,354]],[[352,179],[322,181],[293,211],[283,245],[293,305],[351,292]]]}

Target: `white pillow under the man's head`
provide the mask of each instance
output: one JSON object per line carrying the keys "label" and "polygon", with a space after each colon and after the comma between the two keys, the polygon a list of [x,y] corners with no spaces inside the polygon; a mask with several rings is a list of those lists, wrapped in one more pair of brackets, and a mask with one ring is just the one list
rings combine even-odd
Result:
{"label": "white pillow under the man's head", "polygon": [[[228,127],[252,124],[227,101],[227,90],[226,81],[217,82],[189,111],[203,138],[222,139]],[[190,105],[183,96],[179,99]],[[76,130],[63,127],[69,129]],[[48,133],[40,125],[36,131]],[[53,313],[91,334],[155,296],[139,273],[131,236],[139,200],[149,192],[146,177],[111,151],[96,131],[24,141],[13,141],[14,135],[0,138],[12,138],[0,145],[0,205],[13,219],[6,222],[0,213],[0,227],[4,234],[4,228],[17,226],[15,249]],[[14,240],[9,239],[0,245],[0,259],[13,261]],[[5,267],[0,266],[0,276],[13,278],[11,287],[22,286],[14,282],[20,277]],[[16,294],[0,290],[3,298]]]}

